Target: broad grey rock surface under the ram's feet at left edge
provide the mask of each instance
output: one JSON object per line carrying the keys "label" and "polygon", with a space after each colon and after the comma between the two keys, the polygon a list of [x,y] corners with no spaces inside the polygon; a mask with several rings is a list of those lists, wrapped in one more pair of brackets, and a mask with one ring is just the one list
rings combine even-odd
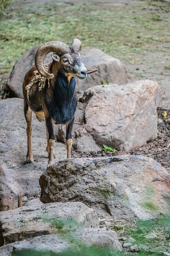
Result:
{"label": "broad grey rock surface under the ram's feet at left edge", "polygon": [[[39,194],[39,177],[47,168],[47,139],[45,122],[38,122],[33,114],[31,140],[35,162],[25,165],[27,137],[23,100],[0,101],[0,112],[0,210],[9,210],[18,207],[22,191],[28,197]],[[56,160],[66,158],[64,150],[65,145],[60,143]]]}

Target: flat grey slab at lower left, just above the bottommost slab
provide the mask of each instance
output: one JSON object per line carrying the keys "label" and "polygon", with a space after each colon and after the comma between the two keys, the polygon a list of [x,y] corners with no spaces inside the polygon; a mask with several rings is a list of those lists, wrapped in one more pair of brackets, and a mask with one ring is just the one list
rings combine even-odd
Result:
{"label": "flat grey slab at lower left, just above the bottommost slab", "polygon": [[98,227],[96,212],[81,202],[23,206],[0,212],[0,245],[55,234],[58,230]]}

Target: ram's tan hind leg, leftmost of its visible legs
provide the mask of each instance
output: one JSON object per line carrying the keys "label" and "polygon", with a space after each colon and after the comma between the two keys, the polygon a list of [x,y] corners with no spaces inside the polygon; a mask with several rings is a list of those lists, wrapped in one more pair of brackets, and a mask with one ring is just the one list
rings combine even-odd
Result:
{"label": "ram's tan hind leg, leftmost of its visible legs", "polygon": [[27,156],[26,163],[33,162],[33,153],[31,150],[31,118],[32,118],[32,110],[29,108],[27,103],[24,102],[24,115],[27,122]]}

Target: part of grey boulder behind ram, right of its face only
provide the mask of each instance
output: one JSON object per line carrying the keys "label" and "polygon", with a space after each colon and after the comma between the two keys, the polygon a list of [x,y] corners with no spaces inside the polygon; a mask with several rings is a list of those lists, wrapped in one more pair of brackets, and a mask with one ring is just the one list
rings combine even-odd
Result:
{"label": "part of grey boulder behind ram, right of its face only", "polygon": [[83,50],[82,60],[87,68],[96,68],[98,72],[88,75],[84,80],[76,80],[78,95],[83,94],[87,88],[103,84],[103,82],[108,84],[125,84],[127,82],[125,65],[99,49]]}

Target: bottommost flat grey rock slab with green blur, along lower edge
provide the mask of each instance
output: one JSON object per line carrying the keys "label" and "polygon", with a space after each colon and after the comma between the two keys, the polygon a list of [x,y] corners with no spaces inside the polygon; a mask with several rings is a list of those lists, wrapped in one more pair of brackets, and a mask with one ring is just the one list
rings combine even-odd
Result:
{"label": "bottommost flat grey rock slab with green blur, along lower edge", "polygon": [[[3,256],[13,253],[34,253],[34,255],[49,255],[48,253],[85,252],[89,247],[99,247],[105,250],[122,250],[117,234],[106,228],[84,228],[65,234],[49,234],[36,236],[23,241],[2,246]],[[61,254],[60,254],[61,255]],[[69,254],[68,254],[69,255]]]}

